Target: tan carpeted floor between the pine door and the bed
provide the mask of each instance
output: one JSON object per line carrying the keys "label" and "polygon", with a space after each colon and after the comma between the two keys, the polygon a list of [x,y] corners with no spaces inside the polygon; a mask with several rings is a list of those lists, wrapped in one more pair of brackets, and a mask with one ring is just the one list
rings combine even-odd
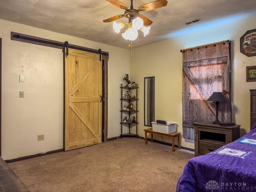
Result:
{"label": "tan carpeted floor between the pine door and the bed", "polygon": [[9,163],[31,192],[175,192],[194,153],[123,138]]}

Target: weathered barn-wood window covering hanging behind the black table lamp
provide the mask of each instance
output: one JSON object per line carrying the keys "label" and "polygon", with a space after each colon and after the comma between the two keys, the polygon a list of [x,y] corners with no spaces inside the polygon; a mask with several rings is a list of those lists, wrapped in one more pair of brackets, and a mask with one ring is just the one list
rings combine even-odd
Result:
{"label": "weathered barn-wood window covering hanging behind the black table lamp", "polygon": [[216,104],[206,101],[213,92],[229,100],[220,102],[219,120],[231,121],[229,42],[184,51],[182,75],[184,138],[194,140],[195,122],[215,120]]}

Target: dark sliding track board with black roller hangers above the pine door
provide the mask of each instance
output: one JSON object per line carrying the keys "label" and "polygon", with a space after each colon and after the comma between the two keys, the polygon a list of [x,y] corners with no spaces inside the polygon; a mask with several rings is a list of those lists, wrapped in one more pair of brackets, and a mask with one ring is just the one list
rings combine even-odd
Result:
{"label": "dark sliding track board with black roller hangers above the pine door", "polygon": [[54,48],[66,48],[66,55],[68,55],[68,49],[70,48],[70,49],[76,49],[76,50],[99,54],[100,61],[102,60],[102,55],[108,57],[108,52],[102,52],[101,49],[95,50],[95,49],[89,49],[89,48],[85,48],[85,47],[75,46],[75,45],[69,44],[68,41],[65,41],[64,43],[62,43],[62,42],[58,42],[58,41],[32,37],[32,36],[18,34],[18,33],[14,33],[14,32],[12,32],[11,39],[17,40],[17,41],[22,41],[22,42],[33,43],[33,44],[50,46],[50,47],[54,47]]}

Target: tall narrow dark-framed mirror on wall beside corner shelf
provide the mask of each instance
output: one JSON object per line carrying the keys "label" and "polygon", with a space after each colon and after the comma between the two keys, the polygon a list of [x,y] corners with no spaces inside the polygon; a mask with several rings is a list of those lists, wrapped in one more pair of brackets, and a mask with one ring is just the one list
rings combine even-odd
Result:
{"label": "tall narrow dark-framed mirror on wall beside corner shelf", "polygon": [[144,78],[144,126],[155,120],[155,77]]}

